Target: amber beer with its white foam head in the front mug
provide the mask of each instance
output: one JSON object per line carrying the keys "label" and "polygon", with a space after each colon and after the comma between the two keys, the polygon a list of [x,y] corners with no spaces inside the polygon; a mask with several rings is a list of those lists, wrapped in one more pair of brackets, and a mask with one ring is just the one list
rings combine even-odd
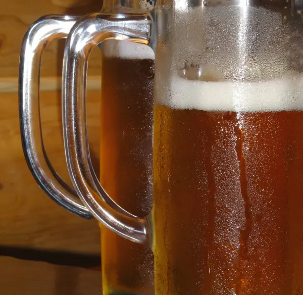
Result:
{"label": "amber beer with its white foam head in the front mug", "polygon": [[176,80],[155,107],[156,293],[303,294],[303,78]]}

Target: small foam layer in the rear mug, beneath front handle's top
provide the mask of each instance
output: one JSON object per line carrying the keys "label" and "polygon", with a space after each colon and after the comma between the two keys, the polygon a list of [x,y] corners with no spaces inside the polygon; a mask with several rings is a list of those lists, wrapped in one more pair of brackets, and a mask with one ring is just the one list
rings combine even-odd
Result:
{"label": "small foam layer in the rear mug, beneath front handle's top", "polygon": [[155,59],[154,51],[149,46],[121,40],[107,40],[104,42],[103,53],[107,58]]}

